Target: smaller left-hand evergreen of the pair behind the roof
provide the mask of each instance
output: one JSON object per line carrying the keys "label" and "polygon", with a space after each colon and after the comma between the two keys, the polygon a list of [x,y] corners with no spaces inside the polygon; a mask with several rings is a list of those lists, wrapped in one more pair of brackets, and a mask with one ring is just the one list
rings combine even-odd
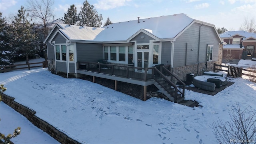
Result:
{"label": "smaller left-hand evergreen of the pair behind the roof", "polygon": [[77,8],[73,4],[72,6],[70,6],[70,8],[68,8],[68,12],[64,14],[64,23],[75,25],[76,22],[78,22],[78,20],[79,20],[79,17],[77,13]]}

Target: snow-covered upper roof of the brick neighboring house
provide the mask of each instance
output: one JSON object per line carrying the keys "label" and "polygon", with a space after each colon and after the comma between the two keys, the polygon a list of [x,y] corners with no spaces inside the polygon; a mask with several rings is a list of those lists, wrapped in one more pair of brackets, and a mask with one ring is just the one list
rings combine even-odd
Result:
{"label": "snow-covered upper roof of the brick neighboring house", "polygon": [[230,37],[233,37],[233,36],[236,36],[236,35],[245,37],[244,40],[246,40],[246,39],[248,39],[250,37],[256,39],[256,33],[254,33],[254,32],[246,32],[244,30],[227,31],[227,32],[224,32],[224,33],[220,34],[220,37],[221,38],[230,38]]}

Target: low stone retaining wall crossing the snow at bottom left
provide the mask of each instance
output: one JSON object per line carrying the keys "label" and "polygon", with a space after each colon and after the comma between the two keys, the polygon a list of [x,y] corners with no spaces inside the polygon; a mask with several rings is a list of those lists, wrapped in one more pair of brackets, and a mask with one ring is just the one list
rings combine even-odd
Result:
{"label": "low stone retaining wall crossing the snow at bottom left", "polygon": [[36,112],[18,102],[14,101],[15,98],[2,94],[2,101],[8,106],[12,107],[14,110],[25,116],[32,124],[52,136],[61,144],[80,144],[76,140],[69,138],[66,134],[61,132],[59,129],[56,129],[54,126],[50,125],[48,122],[35,116]]}

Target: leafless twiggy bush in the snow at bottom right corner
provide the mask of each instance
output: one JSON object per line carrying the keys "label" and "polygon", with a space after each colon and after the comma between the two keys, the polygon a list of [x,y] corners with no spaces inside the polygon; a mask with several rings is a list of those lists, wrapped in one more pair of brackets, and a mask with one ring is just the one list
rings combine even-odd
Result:
{"label": "leafless twiggy bush in the snow at bottom right corner", "polygon": [[[248,107],[249,108],[249,107]],[[231,121],[223,122],[220,118],[210,126],[219,144],[255,144],[256,111],[252,108],[241,110],[240,104],[233,106]]]}

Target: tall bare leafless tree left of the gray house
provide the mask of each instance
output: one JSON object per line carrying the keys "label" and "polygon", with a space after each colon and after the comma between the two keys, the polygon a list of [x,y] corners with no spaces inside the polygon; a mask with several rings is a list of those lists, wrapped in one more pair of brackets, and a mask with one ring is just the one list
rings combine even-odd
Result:
{"label": "tall bare leafless tree left of the gray house", "polygon": [[[54,16],[52,6],[53,0],[28,0],[28,11],[32,18],[38,19],[38,22],[42,24],[42,28],[39,32],[43,34],[42,41],[48,36],[48,24],[52,21]],[[44,58],[47,62],[47,49],[46,44],[43,44]]]}

